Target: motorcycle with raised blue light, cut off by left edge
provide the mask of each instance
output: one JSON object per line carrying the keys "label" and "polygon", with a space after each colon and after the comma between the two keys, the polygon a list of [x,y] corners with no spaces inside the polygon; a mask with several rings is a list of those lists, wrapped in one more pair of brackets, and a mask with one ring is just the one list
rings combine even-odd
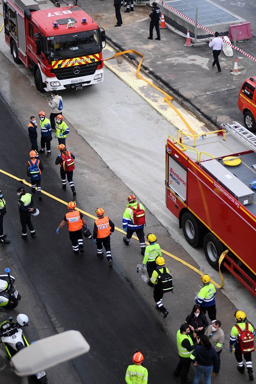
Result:
{"label": "motorcycle with raised blue light, cut off by left edge", "polygon": [[15,308],[21,296],[15,288],[15,278],[10,275],[10,268],[4,269],[6,274],[0,274],[0,306]]}

